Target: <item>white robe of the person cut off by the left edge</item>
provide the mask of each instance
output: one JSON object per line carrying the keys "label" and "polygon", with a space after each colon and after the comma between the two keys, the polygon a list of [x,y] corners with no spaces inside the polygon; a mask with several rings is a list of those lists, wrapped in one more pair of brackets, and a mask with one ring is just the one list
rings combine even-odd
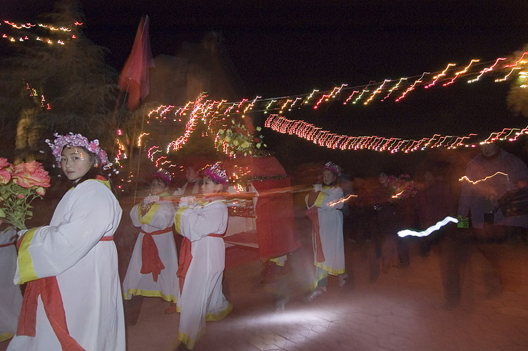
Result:
{"label": "white robe of the person cut off by the left edge", "polygon": [[13,283],[16,269],[16,231],[0,231],[0,343],[15,335],[22,307],[20,287]]}

